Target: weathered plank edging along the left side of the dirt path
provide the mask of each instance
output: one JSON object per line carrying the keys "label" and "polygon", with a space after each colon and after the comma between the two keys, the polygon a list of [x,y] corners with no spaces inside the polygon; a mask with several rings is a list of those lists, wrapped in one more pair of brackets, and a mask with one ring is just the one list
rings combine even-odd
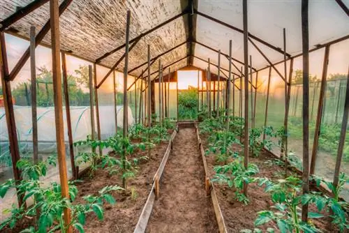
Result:
{"label": "weathered plank edging along the left side of the dirt path", "polygon": [[[176,126],[178,128],[178,124]],[[155,183],[154,181],[160,180],[161,176],[163,174],[163,170],[165,169],[165,165],[168,161],[168,156],[170,156],[171,153],[171,148],[172,148],[172,142],[174,140],[174,137],[177,135],[177,130],[173,130],[173,133],[170,137],[170,142],[168,143],[168,149],[166,149],[165,154],[163,156],[163,160],[161,161],[161,164],[158,167],[158,170],[156,171],[154,178],[153,178],[153,185],[151,186],[149,196],[147,198],[147,202],[145,202],[144,207],[142,209],[142,213],[140,213],[140,218],[138,218],[138,223],[135,226],[135,230],[133,233],[143,233],[145,232],[147,225],[148,225],[148,220],[151,215],[151,211],[153,211],[153,206],[155,202]]]}

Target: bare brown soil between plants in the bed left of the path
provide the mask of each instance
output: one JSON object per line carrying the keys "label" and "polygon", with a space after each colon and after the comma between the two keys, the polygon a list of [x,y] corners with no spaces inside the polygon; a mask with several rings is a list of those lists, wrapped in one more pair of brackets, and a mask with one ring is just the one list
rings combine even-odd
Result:
{"label": "bare brown soil between plants in the bed left of the path", "polygon": [[[168,142],[161,142],[151,149],[151,159],[140,162],[138,165],[138,172],[134,178],[128,179],[128,193],[113,192],[112,195],[117,201],[114,206],[105,204],[104,220],[98,220],[94,213],[87,214],[86,224],[84,225],[85,232],[133,232],[135,225],[138,222],[142,208],[149,195],[151,189],[152,179],[158,166],[163,159],[163,155],[168,147]],[[147,156],[147,151],[137,151],[132,157]],[[105,186],[122,186],[121,177],[112,175],[107,170],[98,169],[92,178],[89,177],[88,172],[85,172],[79,179],[82,182],[77,182],[78,188],[77,198],[75,203],[85,203],[82,197],[86,195],[98,195],[98,190]],[[135,200],[131,198],[131,188],[135,188],[137,197]],[[6,227],[1,232],[20,232],[31,225],[31,220],[25,218],[21,220],[15,228],[10,229]]]}

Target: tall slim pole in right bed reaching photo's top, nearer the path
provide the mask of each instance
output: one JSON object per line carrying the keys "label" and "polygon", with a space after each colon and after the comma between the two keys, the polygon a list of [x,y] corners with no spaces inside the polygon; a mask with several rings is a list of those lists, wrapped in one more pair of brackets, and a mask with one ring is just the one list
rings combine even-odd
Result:
{"label": "tall slim pole in right bed reaching photo's top, nearer the path", "polygon": [[[248,27],[247,0],[242,1],[242,15],[244,24],[244,78],[245,78],[245,128],[244,128],[244,167],[248,167]],[[244,182],[244,195],[247,196],[248,183]]]}

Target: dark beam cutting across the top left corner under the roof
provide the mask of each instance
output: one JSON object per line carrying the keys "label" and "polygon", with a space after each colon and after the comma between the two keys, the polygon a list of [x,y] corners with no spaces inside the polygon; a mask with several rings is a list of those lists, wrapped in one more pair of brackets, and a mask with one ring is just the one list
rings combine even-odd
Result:
{"label": "dark beam cutting across the top left corner under the roof", "polygon": [[6,19],[0,22],[0,31],[5,30],[6,28],[10,27],[12,24],[17,22],[18,20],[22,19],[22,17],[33,12],[40,6],[43,6],[43,4],[47,3],[47,1],[48,0],[35,0],[29,3],[27,6],[23,6],[22,8],[20,8],[20,10],[17,10],[15,13],[6,17]]}

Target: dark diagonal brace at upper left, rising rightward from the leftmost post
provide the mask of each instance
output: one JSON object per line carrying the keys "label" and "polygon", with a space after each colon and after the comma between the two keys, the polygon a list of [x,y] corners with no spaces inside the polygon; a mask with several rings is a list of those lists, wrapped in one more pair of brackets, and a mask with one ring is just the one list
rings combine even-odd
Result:
{"label": "dark diagonal brace at upper left, rising rightward from the leftmost post", "polygon": [[[64,0],[64,2],[61,3],[61,5],[59,6],[59,15],[64,13],[64,10],[68,8],[68,6],[72,1],[73,0]],[[50,31],[50,29],[51,29],[50,20],[47,20],[43,28],[38,32],[38,35],[36,35],[35,47],[38,46],[38,44],[43,40],[43,38],[46,36],[47,32]],[[52,46],[52,50],[53,50],[53,46]],[[17,63],[15,64],[15,67],[13,68],[13,70],[11,71],[8,77],[8,80],[13,81],[15,79],[17,74],[20,73],[20,70],[23,68],[24,64],[29,59],[29,56],[30,56],[30,47],[28,47],[28,49],[24,52],[20,60],[17,61]]]}

